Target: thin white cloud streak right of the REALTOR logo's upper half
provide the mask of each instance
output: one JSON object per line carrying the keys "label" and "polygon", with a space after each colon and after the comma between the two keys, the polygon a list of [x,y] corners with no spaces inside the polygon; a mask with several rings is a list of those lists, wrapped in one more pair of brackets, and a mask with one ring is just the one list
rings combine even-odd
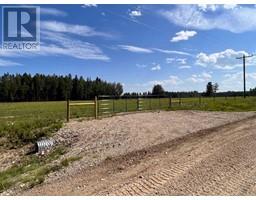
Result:
{"label": "thin white cloud streak right of the REALTOR logo's upper half", "polygon": [[95,31],[93,28],[86,25],[67,24],[57,21],[41,21],[41,29],[58,33],[70,33],[80,36],[111,37],[107,33]]}

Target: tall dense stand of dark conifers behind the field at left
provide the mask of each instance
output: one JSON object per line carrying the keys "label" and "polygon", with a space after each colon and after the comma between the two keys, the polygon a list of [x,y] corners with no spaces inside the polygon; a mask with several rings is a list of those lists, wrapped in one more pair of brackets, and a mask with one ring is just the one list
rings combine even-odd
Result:
{"label": "tall dense stand of dark conifers behind the field at left", "polygon": [[96,95],[120,96],[120,83],[96,78],[36,74],[4,74],[0,76],[0,101],[55,101],[92,99]]}

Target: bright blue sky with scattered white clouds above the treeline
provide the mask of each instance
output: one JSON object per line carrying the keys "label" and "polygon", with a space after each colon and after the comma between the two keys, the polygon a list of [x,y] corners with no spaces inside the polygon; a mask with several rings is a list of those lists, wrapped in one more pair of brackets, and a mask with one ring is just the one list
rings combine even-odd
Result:
{"label": "bright blue sky with scattered white clouds above the treeline", "polygon": [[[100,77],[125,92],[242,90],[242,54],[255,53],[254,5],[40,5],[41,49],[0,51],[0,74]],[[1,13],[0,13],[1,14]],[[2,15],[1,15],[2,16]],[[1,30],[2,31],[2,30]],[[1,32],[2,33],[2,32]],[[256,57],[247,60],[256,86]]]}

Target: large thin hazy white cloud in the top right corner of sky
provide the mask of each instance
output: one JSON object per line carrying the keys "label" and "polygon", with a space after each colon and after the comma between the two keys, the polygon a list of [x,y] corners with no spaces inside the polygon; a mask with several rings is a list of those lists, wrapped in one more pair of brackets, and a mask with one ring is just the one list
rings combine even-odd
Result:
{"label": "large thin hazy white cloud in the top right corner of sky", "polygon": [[171,23],[186,28],[221,29],[234,33],[256,29],[255,7],[233,6],[233,9],[231,8],[232,6],[222,6],[218,14],[210,15],[197,5],[178,5],[174,9],[160,11],[160,14]]}

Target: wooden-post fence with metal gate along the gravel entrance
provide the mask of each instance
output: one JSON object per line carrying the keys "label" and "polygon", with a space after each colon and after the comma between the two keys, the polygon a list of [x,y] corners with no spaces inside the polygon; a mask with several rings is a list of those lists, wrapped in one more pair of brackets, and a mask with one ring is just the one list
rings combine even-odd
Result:
{"label": "wooden-post fence with metal gate along the gravel entrance", "polygon": [[210,102],[236,100],[238,97],[197,97],[181,98],[181,97],[158,97],[158,96],[136,96],[136,97],[114,97],[114,96],[98,96],[94,100],[88,102],[75,102],[67,100],[67,121],[70,119],[70,111],[72,107],[86,107],[91,109],[90,117],[95,119],[99,117],[113,116],[117,113],[141,112],[149,110],[175,110],[190,109],[207,106]]}

